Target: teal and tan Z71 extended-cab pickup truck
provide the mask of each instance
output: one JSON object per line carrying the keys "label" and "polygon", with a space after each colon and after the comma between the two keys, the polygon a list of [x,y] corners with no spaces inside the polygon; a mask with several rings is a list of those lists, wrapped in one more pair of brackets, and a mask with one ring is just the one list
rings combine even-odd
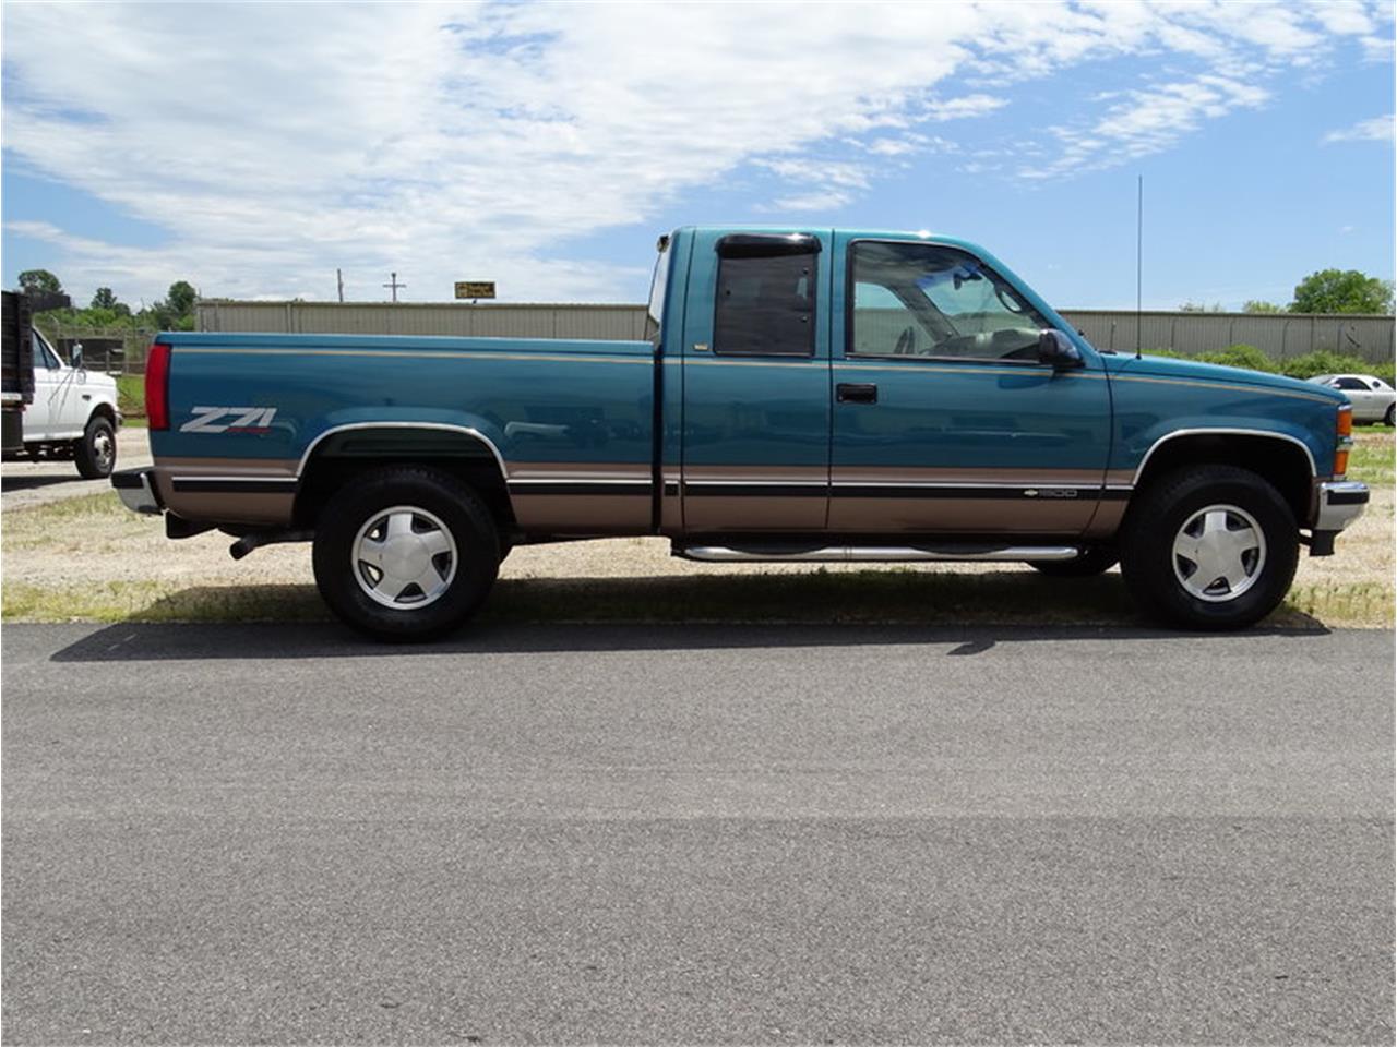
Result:
{"label": "teal and tan Z71 extended-cab pickup truck", "polygon": [[1094,349],[979,247],[683,228],[643,342],[162,334],[154,466],[113,476],[235,557],[313,542],[381,638],[439,635],[513,546],[662,535],[700,561],[1120,563],[1157,620],[1225,630],[1334,550],[1341,394]]}

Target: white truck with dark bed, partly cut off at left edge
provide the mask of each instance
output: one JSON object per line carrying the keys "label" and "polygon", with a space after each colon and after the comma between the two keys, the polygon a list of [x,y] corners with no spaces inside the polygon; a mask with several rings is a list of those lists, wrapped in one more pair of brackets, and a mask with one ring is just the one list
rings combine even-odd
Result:
{"label": "white truck with dark bed, partly cut off at left edge", "polygon": [[[88,371],[81,349],[73,364],[29,327],[27,310],[6,292],[4,458],[73,461],[84,479],[96,480],[116,465],[122,426],[116,380]],[[25,345],[28,342],[28,345]]]}

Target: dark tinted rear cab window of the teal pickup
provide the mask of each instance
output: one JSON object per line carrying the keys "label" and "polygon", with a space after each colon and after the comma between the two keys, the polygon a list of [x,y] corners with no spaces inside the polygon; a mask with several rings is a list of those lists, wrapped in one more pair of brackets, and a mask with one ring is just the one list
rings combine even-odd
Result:
{"label": "dark tinted rear cab window of the teal pickup", "polygon": [[728,236],[718,243],[712,352],[813,356],[814,237]]}

